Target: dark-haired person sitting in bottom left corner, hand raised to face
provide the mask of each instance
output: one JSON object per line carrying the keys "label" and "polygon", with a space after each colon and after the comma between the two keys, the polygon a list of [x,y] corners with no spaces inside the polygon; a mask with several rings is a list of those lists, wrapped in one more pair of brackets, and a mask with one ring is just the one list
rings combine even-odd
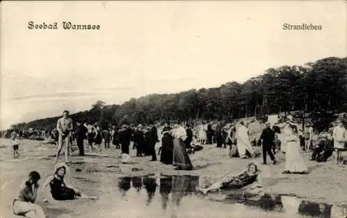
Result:
{"label": "dark-haired person sitting in bottom left corner, hand raised to face", "polygon": [[40,174],[37,171],[31,171],[28,180],[19,187],[18,194],[12,203],[13,213],[31,218],[44,218],[44,211],[41,206],[35,203],[37,189],[40,180]]}

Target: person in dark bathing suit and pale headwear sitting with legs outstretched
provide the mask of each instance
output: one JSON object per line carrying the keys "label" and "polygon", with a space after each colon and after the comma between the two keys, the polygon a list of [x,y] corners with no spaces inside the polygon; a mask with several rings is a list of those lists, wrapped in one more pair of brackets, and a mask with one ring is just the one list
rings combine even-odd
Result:
{"label": "person in dark bathing suit and pale headwear sitting with legs outstretched", "polygon": [[[70,185],[67,185],[64,181],[64,176],[67,173],[67,165],[63,163],[58,163],[54,167],[54,174],[48,176],[43,185],[43,190],[50,185],[51,194],[53,199],[57,201],[74,200],[74,199],[98,199],[97,196],[88,196],[83,194],[80,190],[77,190]],[[47,201],[44,199],[44,201]]]}

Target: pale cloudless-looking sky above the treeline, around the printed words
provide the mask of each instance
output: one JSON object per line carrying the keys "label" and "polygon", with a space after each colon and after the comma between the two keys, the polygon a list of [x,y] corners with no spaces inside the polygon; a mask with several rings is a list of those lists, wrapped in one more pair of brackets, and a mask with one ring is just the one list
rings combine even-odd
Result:
{"label": "pale cloudless-looking sky above the treeline, around the printed words", "polygon": [[[344,1],[1,2],[1,127],[346,56]],[[99,24],[29,30],[28,22]],[[319,24],[321,31],[282,25]]]}

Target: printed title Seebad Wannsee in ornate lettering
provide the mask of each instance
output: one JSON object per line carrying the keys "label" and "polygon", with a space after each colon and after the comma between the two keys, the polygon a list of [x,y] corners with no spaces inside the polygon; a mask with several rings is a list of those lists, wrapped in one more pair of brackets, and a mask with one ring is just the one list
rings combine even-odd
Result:
{"label": "printed title Seebad Wannsee in ornate lettering", "polygon": [[35,24],[35,22],[28,22],[28,29],[31,30],[57,30],[59,28],[62,28],[64,30],[99,30],[100,25],[97,24],[74,24],[71,22],[61,22],[60,25],[58,25],[58,22],[53,23],[40,23]]}

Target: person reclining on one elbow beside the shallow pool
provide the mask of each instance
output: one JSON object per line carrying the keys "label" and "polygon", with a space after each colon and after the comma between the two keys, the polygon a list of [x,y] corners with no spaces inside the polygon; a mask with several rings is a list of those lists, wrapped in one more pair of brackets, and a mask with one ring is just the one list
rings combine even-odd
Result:
{"label": "person reclining on one elbow beside the shallow pool", "polygon": [[207,194],[212,190],[220,190],[221,188],[233,188],[240,189],[246,185],[251,185],[251,190],[256,188],[262,188],[262,180],[259,175],[260,169],[257,167],[255,162],[248,163],[246,169],[242,173],[235,176],[229,176],[230,173],[226,174],[217,183],[212,184],[210,187],[201,188],[200,191],[203,194]]}

